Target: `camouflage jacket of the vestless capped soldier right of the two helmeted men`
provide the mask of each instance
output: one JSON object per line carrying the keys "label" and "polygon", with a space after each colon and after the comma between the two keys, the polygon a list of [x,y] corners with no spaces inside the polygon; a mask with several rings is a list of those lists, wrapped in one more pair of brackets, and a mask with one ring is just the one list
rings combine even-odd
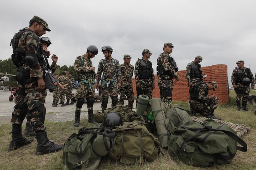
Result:
{"label": "camouflage jacket of the vestless capped soldier right of the two helmeted men", "polygon": [[133,76],[133,70],[134,67],[129,64],[128,66],[124,64],[120,65],[121,69],[121,86],[132,86],[132,76]]}

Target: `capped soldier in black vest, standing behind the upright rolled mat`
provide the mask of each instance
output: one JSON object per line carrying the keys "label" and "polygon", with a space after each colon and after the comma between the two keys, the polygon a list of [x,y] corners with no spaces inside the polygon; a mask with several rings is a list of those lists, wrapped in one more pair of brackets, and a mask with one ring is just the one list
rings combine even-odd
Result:
{"label": "capped soldier in black vest, standing behind the upright rolled mat", "polygon": [[134,75],[136,82],[137,100],[138,103],[139,95],[146,95],[149,99],[152,99],[152,92],[155,89],[155,77],[154,69],[152,67],[150,56],[152,53],[148,49],[144,49],[142,52],[142,58],[136,61]]}

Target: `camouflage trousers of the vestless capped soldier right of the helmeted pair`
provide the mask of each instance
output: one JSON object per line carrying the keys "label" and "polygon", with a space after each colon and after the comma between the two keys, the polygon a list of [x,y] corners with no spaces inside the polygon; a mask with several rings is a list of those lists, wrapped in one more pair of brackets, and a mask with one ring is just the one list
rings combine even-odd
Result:
{"label": "camouflage trousers of the vestless capped soldier right of the helmeted pair", "polygon": [[130,109],[132,109],[133,108],[133,103],[134,103],[134,93],[133,93],[132,85],[121,87],[119,89],[119,92],[120,92],[119,104],[124,105],[124,99],[125,99],[125,96],[127,96],[128,106],[129,106]]}

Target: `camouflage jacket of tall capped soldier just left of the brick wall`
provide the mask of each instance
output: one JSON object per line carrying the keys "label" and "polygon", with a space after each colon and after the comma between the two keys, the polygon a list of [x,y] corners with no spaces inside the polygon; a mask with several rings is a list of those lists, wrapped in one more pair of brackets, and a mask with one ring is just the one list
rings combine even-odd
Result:
{"label": "camouflage jacket of tall capped soldier just left of the brick wall", "polygon": [[163,74],[162,76],[159,76],[158,80],[161,79],[172,79],[173,77],[176,77],[178,74],[172,67],[172,65],[169,62],[169,55],[167,53],[161,53],[158,57],[158,62],[161,63],[161,65],[164,67],[165,72],[167,74]]}

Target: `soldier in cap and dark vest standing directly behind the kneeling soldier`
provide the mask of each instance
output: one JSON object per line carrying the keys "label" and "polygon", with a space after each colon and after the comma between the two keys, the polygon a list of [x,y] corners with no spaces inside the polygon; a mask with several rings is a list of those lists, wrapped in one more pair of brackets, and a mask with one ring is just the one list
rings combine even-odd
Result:
{"label": "soldier in cap and dark vest standing directly behind the kneeling soldier", "polygon": [[201,56],[197,56],[194,61],[187,64],[186,79],[189,87],[193,87],[203,81],[202,71],[200,69],[201,64],[199,64],[202,60],[203,58]]}

